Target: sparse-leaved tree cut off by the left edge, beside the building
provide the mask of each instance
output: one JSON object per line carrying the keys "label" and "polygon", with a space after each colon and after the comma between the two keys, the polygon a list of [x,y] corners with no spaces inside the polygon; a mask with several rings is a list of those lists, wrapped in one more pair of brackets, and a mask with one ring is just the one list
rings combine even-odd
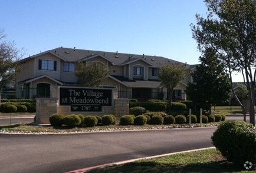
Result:
{"label": "sparse-leaved tree cut off by the left edge, beside the building", "polygon": [[15,48],[14,41],[6,41],[6,34],[4,34],[4,29],[0,28],[0,105],[1,105],[1,95],[2,88],[14,79],[21,69],[19,60],[25,54],[24,49]]}

